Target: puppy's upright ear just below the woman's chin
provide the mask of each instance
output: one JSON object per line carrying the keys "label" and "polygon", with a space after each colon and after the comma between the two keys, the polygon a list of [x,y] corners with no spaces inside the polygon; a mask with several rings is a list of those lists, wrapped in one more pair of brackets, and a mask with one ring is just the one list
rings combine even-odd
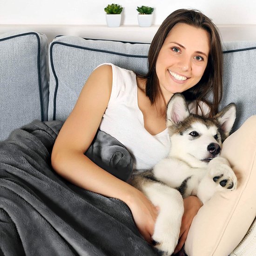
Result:
{"label": "puppy's upright ear just below the woman's chin", "polygon": [[180,93],[174,94],[167,105],[167,127],[179,124],[189,115],[189,108],[184,96]]}

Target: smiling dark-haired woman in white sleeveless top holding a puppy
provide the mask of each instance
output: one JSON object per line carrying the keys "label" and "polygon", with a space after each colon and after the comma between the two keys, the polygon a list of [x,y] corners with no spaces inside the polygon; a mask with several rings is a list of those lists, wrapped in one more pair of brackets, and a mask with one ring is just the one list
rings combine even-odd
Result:
{"label": "smiling dark-haired woman in white sleeveless top holding a puppy", "polygon": [[[222,49],[215,25],[198,11],[171,13],[152,40],[148,64],[145,76],[112,64],[93,71],[54,144],[52,166],[77,186],[126,202],[141,235],[150,243],[157,208],[139,190],[90,161],[84,152],[99,128],[129,150],[135,170],[151,168],[169,151],[165,112],[174,93],[183,92],[197,112],[212,91],[208,112],[216,114],[222,94]],[[201,206],[195,196],[184,199],[175,252],[182,248]]]}

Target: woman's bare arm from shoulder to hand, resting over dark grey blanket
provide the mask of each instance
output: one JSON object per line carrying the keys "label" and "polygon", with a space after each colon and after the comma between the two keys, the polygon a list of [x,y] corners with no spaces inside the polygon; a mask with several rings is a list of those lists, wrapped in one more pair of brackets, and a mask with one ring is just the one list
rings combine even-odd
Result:
{"label": "woman's bare arm from shoulder to hand, resting over dark grey blanket", "polygon": [[83,189],[125,202],[141,235],[150,242],[157,216],[152,203],[141,191],[101,169],[84,155],[99,128],[111,89],[112,67],[96,68],[54,143],[52,166],[59,175]]}

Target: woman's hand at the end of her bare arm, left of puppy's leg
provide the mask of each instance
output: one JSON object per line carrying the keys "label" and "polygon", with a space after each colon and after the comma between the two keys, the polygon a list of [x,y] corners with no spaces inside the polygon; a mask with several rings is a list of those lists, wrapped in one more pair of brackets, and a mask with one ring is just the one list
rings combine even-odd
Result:
{"label": "woman's hand at the end of her bare arm, left of puppy's leg", "polygon": [[138,189],[133,191],[126,203],[132,212],[135,224],[141,235],[148,243],[152,243],[151,236],[154,233],[158,208]]}

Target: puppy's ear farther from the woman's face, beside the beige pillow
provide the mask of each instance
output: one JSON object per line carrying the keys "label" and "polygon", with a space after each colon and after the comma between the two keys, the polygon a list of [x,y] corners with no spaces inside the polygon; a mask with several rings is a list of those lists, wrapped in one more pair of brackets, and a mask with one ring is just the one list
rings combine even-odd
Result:
{"label": "puppy's ear farther from the woman's face, beside the beige pillow", "polygon": [[236,120],[236,104],[230,103],[228,106],[222,109],[216,116],[214,116],[219,123],[220,128],[224,133],[224,140],[229,136],[229,133]]}

